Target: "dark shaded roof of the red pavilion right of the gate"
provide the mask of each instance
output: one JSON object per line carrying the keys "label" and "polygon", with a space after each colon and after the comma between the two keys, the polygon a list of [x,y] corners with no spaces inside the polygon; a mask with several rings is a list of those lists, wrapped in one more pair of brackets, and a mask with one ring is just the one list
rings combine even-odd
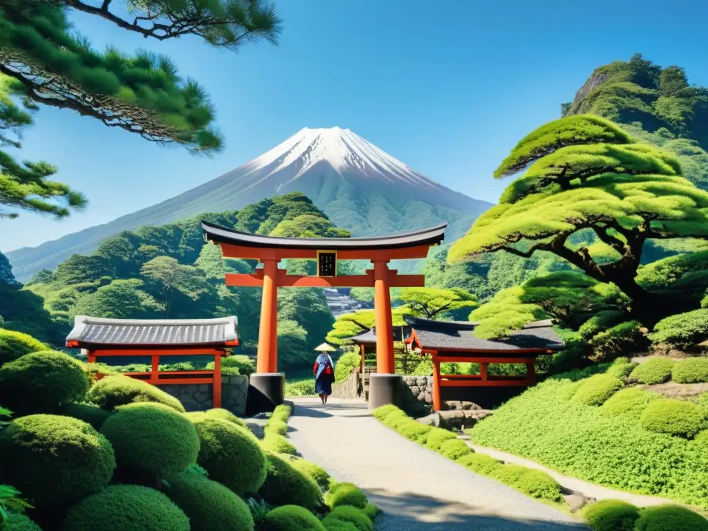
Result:
{"label": "dark shaded roof of the red pavilion right of the gate", "polygon": [[565,347],[550,319],[526,324],[522,330],[501,339],[481,339],[474,335],[479,323],[467,321],[432,321],[406,315],[406,323],[415,332],[416,346],[430,350],[561,350]]}

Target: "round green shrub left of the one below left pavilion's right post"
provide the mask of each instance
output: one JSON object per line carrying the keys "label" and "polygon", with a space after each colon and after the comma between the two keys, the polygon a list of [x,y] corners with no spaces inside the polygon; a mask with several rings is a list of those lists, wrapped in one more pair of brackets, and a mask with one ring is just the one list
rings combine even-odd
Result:
{"label": "round green shrub left of the one below left pavilion's right post", "polygon": [[115,449],[119,467],[159,477],[173,476],[197,460],[199,437],[193,423],[164,404],[121,406],[106,419],[101,433]]}

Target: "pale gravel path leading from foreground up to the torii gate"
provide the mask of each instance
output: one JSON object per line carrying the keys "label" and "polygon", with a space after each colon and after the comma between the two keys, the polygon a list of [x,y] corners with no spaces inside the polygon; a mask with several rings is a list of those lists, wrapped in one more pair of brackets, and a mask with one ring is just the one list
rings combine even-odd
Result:
{"label": "pale gravel path leading from foreground up to the torii gate", "polygon": [[358,400],[293,399],[288,436],[302,456],[367,492],[377,531],[578,531],[571,515],[404,439]]}

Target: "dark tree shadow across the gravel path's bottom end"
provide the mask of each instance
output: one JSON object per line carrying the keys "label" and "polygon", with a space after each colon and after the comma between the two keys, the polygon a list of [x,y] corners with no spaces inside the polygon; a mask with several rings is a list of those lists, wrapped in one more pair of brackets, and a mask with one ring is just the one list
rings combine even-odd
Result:
{"label": "dark tree shadow across the gravel path's bottom end", "polygon": [[[511,520],[502,516],[475,514],[483,507],[445,502],[416,493],[390,493],[368,489],[369,501],[383,511],[376,520],[377,531],[585,531],[582,523],[541,520]],[[475,513],[471,512],[471,509]]]}

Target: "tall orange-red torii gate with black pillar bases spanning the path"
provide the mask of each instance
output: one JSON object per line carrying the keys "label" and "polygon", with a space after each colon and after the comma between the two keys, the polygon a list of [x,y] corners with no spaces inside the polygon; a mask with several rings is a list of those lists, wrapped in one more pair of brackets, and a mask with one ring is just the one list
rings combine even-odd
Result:
{"label": "tall orange-red torii gate with black pillar bases spanning the path", "polygon": [[[284,238],[239,232],[202,221],[205,239],[221,246],[224,258],[251,258],[263,268],[256,273],[227,273],[227,286],[263,287],[258,360],[251,386],[263,395],[264,409],[282,404],[285,375],[278,372],[278,287],[373,287],[377,331],[377,375],[370,381],[369,406],[391,404],[396,391],[392,336],[392,287],[423,287],[425,275],[399,275],[389,261],[426,258],[430,246],[445,238],[446,223],[429,229],[381,237]],[[287,258],[316,260],[316,276],[288,275],[278,269]],[[370,260],[373,270],[365,275],[337,276],[338,260]],[[374,377],[375,376],[375,377]]]}

